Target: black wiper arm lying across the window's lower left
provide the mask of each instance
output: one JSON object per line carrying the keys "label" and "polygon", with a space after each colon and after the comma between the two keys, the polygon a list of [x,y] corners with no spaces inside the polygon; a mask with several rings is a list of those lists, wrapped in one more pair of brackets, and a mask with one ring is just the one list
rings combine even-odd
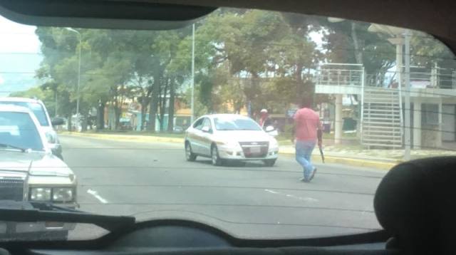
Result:
{"label": "black wiper arm lying across the window's lower left", "polygon": [[94,224],[109,231],[130,227],[135,217],[90,214],[48,202],[0,200],[0,220],[10,222],[68,222]]}

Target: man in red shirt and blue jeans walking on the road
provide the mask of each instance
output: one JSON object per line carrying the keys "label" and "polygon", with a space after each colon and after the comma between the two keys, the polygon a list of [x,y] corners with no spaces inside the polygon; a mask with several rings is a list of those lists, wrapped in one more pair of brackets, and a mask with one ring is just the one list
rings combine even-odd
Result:
{"label": "man in red shirt and blue jeans walking on the road", "polygon": [[303,182],[310,182],[316,173],[311,155],[318,140],[321,146],[321,123],[318,114],[311,109],[311,100],[304,98],[301,109],[294,114],[294,137],[296,139],[296,161],[303,167]]}

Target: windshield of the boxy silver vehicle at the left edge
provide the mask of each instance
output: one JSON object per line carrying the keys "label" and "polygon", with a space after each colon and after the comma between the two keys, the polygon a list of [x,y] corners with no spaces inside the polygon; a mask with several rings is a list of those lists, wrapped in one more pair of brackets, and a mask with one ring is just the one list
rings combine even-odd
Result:
{"label": "windshield of the boxy silver vehicle at the left edge", "polygon": [[0,150],[10,146],[43,150],[41,137],[28,113],[0,111]]}

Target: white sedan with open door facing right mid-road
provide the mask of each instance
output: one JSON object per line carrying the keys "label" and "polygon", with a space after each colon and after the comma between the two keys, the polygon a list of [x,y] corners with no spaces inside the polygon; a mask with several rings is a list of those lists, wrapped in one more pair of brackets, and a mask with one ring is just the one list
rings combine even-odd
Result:
{"label": "white sedan with open door facing right mid-road", "polygon": [[186,131],[185,155],[188,161],[195,161],[197,156],[210,157],[213,165],[262,160],[271,167],[277,160],[279,144],[273,128],[266,130],[269,132],[242,115],[204,115]]}

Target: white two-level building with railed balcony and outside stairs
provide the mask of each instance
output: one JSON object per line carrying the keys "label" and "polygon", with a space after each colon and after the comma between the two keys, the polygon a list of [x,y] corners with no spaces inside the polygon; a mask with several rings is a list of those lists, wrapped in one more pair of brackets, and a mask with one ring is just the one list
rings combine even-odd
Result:
{"label": "white two-level building with railed balcony and outside stairs", "polygon": [[[401,85],[385,77],[393,76],[369,76],[358,64],[325,64],[319,68],[316,93],[336,95],[336,143],[342,133],[342,97],[358,95],[361,143],[368,147],[404,147],[404,99],[408,90],[403,75],[399,76]],[[442,142],[455,142],[455,71],[410,68],[410,102],[410,141],[414,149],[441,148]]]}

